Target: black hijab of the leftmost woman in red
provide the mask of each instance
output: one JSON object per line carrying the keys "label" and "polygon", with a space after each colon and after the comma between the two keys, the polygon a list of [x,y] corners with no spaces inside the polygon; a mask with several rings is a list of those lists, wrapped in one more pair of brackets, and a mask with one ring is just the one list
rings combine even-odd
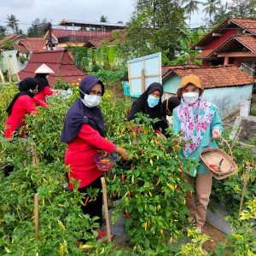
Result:
{"label": "black hijab of the leftmost woman in red", "polygon": [[20,96],[23,96],[23,95],[28,95],[30,97],[34,96],[34,94],[32,93],[32,90],[35,90],[37,85],[38,85],[38,81],[33,78],[26,78],[20,81],[19,83],[20,92],[14,96],[12,102],[10,102],[9,104],[9,107],[6,108],[6,112],[8,113],[8,115],[12,113],[15,102],[18,100]]}

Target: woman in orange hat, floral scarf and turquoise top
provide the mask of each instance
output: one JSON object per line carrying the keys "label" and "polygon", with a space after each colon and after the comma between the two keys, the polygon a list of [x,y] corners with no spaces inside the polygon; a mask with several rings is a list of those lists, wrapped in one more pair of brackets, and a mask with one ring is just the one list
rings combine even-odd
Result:
{"label": "woman in orange hat, floral scarf and turquoise top", "polygon": [[[182,132],[182,158],[197,160],[199,166],[193,170],[183,168],[184,177],[196,190],[196,202],[193,193],[186,195],[189,207],[189,220],[195,222],[195,227],[202,232],[206,221],[207,206],[212,192],[212,174],[207,166],[200,162],[201,150],[217,148],[214,139],[221,137],[223,126],[215,105],[205,102],[201,95],[204,88],[201,80],[190,74],[181,80],[177,96],[181,104],[173,110],[173,130]],[[212,139],[213,137],[213,139]],[[190,172],[189,172],[190,171]]]}

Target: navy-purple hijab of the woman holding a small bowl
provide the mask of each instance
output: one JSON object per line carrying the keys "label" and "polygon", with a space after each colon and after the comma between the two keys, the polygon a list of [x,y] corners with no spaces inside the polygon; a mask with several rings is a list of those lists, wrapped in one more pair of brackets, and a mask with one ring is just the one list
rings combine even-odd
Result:
{"label": "navy-purple hijab of the woman holding a small bowl", "polygon": [[[102,84],[103,95],[104,84],[100,79],[92,75],[87,75],[82,79],[79,85],[79,90],[82,90],[84,94],[89,94],[90,89],[97,83]],[[80,97],[82,99],[84,98],[84,94],[80,92]],[[83,124],[89,124],[93,129],[99,131],[102,137],[104,136],[104,120],[101,109],[97,106],[88,108],[79,98],[73,102],[72,107],[67,111],[63,130],[61,132],[61,143],[71,142],[77,137]]]}

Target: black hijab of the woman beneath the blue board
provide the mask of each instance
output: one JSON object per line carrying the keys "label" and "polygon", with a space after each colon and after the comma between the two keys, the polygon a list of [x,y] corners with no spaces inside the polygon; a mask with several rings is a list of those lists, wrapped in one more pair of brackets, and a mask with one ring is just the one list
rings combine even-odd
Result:
{"label": "black hijab of the woman beneath the blue board", "polygon": [[[148,96],[154,91],[159,90],[160,91],[160,101],[154,108],[148,107]],[[160,119],[159,122],[154,123],[153,127],[154,130],[159,130],[161,128],[162,131],[164,131],[168,124],[166,119],[163,116],[163,110],[162,110],[162,102],[161,97],[163,96],[164,90],[163,86],[159,83],[153,83],[148,86],[148,89],[143,92],[141,96],[137,98],[135,102],[132,103],[131,106],[131,112],[128,115],[128,120],[135,118],[136,113],[142,112],[145,114],[148,114],[151,119]]]}

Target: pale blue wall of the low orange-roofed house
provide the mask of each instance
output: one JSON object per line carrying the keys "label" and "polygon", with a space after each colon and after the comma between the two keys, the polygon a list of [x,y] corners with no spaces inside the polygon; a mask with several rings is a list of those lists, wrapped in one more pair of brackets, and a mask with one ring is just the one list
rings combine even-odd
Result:
{"label": "pale blue wall of the low orange-roofed house", "polygon": [[[163,83],[164,99],[168,96],[176,95],[180,80],[178,76],[172,76],[172,78]],[[204,91],[203,98],[207,102],[215,104],[218,107],[220,116],[225,118],[240,109],[241,101],[251,100],[252,90],[253,84],[212,88]]]}

